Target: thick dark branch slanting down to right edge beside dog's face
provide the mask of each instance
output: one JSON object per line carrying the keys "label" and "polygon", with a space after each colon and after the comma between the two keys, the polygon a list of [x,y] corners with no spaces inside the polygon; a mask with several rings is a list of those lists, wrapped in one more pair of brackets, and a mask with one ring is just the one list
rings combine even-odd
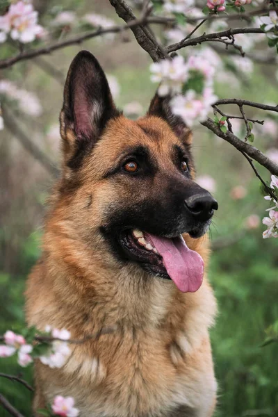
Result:
{"label": "thick dark branch slanting down to right edge beside dog's face", "polygon": [[253,158],[256,162],[259,162],[259,164],[263,165],[271,174],[278,175],[278,165],[271,161],[270,158],[265,156],[259,149],[256,147],[250,145],[247,142],[243,142],[237,136],[234,135],[234,133],[231,133],[231,131],[227,131],[227,133],[224,133],[220,130],[219,126],[211,120],[210,117],[208,117],[207,120],[201,123],[203,126],[206,126],[209,130],[211,130],[213,133],[215,133],[220,138],[226,140],[231,145],[236,147],[238,151],[245,152],[248,156]]}

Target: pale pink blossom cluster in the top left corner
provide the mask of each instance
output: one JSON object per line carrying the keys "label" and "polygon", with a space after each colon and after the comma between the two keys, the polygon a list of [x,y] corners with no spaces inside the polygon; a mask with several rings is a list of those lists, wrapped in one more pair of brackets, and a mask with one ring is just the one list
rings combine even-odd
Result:
{"label": "pale pink blossom cluster in the top left corner", "polygon": [[38,12],[28,1],[12,3],[6,15],[0,16],[0,42],[5,42],[8,35],[22,43],[33,42],[44,33],[38,24]]}

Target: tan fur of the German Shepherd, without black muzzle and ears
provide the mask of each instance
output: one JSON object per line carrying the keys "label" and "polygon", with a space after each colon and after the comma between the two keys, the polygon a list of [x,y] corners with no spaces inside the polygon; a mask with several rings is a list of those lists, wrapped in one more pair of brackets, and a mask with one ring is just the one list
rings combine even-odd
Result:
{"label": "tan fur of the German Shepherd, without black muzzle and ears", "polygon": [[[115,332],[71,345],[63,368],[38,361],[34,408],[60,394],[74,397],[81,417],[211,417],[216,383],[208,328],[216,306],[206,277],[199,291],[183,294],[136,264],[123,266],[99,233],[108,204],[130,198],[140,204],[129,183],[102,179],[122,148],[147,143],[166,175],[172,170],[167,154],[178,138],[158,117],[118,117],[72,174],[66,161],[74,134],[63,130],[63,116],[61,133],[63,176],[50,199],[42,258],[28,278],[26,318],[39,329],[66,328],[74,339],[110,326]],[[161,178],[152,183],[158,193]],[[207,263],[206,237],[184,238]]]}

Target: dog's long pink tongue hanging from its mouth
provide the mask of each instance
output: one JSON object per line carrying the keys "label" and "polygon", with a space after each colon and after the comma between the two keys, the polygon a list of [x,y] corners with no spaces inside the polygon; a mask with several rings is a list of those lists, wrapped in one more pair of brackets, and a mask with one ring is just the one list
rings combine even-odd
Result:
{"label": "dog's long pink tongue hanging from its mouth", "polygon": [[194,250],[190,250],[182,236],[160,238],[147,234],[147,239],[163,258],[168,275],[183,293],[195,293],[202,285],[204,261]]}

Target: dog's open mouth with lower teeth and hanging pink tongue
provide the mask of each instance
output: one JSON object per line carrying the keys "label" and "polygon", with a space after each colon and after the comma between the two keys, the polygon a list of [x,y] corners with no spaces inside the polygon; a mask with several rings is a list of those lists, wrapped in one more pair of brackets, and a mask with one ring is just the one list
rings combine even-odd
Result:
{"label": "dog's open mouth with lower teeth and hanging pink tongue", "polygon": [[129,259],[140,263],[148,272],[172,279],[183,293],[194,293],[202,285],[203,259],[188,248],[181,235],[164,238],[129,229],[120,235],[120,245]]}

